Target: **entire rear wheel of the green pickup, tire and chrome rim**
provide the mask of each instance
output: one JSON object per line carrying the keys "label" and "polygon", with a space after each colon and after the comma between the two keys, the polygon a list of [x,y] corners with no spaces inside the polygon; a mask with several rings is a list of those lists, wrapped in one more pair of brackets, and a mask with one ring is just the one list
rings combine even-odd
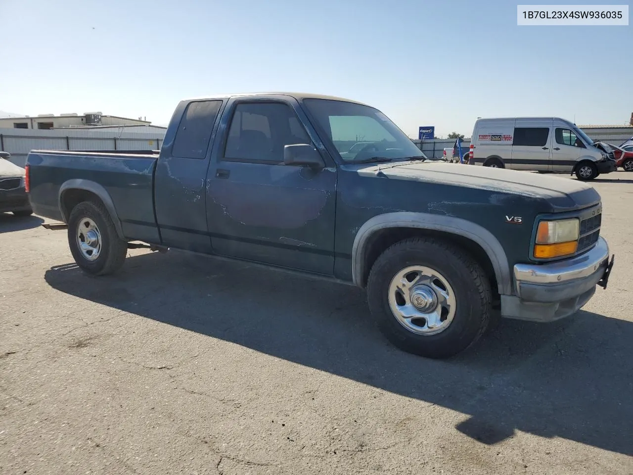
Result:
{"label": "entire rear wheel of the green pickup, tire and chrome rim", "polygon": [[94,201],[79,203],[70,212],[68,246],[77,265],[94,276],[113,274],[127,255],[127,243],[116,233],[110,213]]}

